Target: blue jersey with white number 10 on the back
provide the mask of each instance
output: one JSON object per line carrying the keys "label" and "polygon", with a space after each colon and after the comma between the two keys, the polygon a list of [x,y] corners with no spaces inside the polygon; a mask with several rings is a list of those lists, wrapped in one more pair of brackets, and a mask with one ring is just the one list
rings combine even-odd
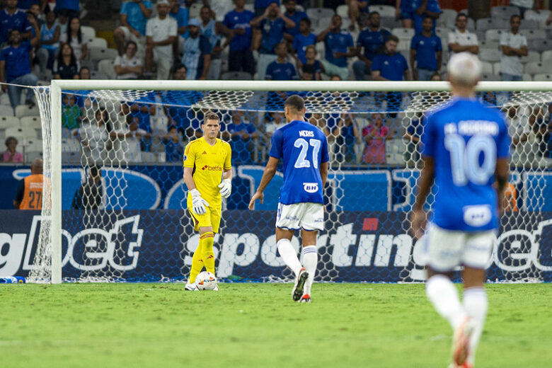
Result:
{"label": "blue jersey with white number 10 on the back", "polygon": [[496,161],[510,156],[505,117],[475,98],[453,98],[427,115],[422,144],[435,159],[431,221],[457,231],[497,229]]}

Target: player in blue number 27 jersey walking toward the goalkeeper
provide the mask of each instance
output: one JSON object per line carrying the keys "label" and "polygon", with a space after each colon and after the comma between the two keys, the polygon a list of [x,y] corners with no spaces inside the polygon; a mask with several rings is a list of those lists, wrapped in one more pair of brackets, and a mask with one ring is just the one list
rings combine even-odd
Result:
{"label": "player in blue number 27 jersey walking toward the goalkeeper", "polygon": [[[284,163],[284,183],[276,215],[276,242],[284,263],[295,273],[292,290],[294,301],[309,303],[311,286],[318,263],[316,234],[324,229],[323,188],[328,178],[328,142],[314,125],[304,121],[303,98],[294,95],[284,103],[284,115],[289,122],[272,135],[270,158],[260,180],[259,188],[251,197],[249,209],[255,200],[263,203],[263,191],[276,173],[280,159]],[[301,229],[303,265],[291,240],[295,230]]]}

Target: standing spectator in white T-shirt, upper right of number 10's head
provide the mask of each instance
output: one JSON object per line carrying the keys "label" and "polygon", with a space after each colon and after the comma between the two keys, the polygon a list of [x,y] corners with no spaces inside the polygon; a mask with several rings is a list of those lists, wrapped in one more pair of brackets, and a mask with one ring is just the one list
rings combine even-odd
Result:
{"label": "standing spectator in white T-shirt, upper right of number 10's head", "polygon": [[514,15],[510,18],[510,32],[500,35],[500,77],[502,81],[521,81],[523,79],[522,57],[527,56],[527,39],[519,34],[522,18]]}

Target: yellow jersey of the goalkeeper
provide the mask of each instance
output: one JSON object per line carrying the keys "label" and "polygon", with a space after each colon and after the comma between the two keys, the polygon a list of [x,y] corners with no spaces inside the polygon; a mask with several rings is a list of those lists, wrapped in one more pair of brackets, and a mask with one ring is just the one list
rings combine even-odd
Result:
{"label": "yellow jersey of the goalkeeper", "polygon": [[[220,207],[221,195],[219,184],[222,181],[222,172],[229,170],[232,151],[230,144],[217,138],[211,146],[204,137],[188,143],[184,151],[184,167],[193,168],[192,177],[195,188],[200,191],[209,206]],[[188,192],[188,197],[190,197]]]}

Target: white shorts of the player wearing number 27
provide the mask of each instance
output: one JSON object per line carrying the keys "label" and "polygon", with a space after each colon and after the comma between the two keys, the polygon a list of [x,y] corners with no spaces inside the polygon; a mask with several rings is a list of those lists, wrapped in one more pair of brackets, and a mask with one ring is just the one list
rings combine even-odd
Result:
{"label": "white shorts of the player wearing number 27", "polygon": [[321,203],[278,203],[276,227],[287,230],[304,229],[315,231],[324,229],[324,206]]}

